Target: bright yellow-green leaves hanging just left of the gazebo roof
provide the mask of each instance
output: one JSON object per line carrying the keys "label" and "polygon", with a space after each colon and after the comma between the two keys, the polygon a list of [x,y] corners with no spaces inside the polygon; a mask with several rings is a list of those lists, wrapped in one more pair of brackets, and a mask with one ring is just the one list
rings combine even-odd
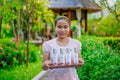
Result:
{"label": "bright yellow-green leaves hanging just left of the gazebo roof", "polygon": [[[44,25],[46,22],[53,22],[53,12],[48,9],[49,3],[48,0],[35,1],[35,11],[34,11],[34,20],[32,22],[31,31],[40,31],[41,29],[46,28]],[[39,7],[38,7],[39,6]]]}

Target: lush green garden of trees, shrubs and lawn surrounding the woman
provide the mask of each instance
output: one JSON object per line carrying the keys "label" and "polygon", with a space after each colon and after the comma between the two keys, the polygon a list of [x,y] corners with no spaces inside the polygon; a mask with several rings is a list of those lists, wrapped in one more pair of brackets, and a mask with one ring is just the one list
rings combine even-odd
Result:
{"label": "lush green garden of trees, shrubs and lawn surrounding the woman", "polygon": [[[77,68],[81,80],[120,80],[120,1],[92,0],[107,16],[88,14],[81,36],[77,20],[71,21],[72,37],[82,43],[85,64]],[[0,80],[31,80],[42,71],[42,43],[56,36],[48,0],[0,0]],[[38,7],[39,6],[39,7]]]}

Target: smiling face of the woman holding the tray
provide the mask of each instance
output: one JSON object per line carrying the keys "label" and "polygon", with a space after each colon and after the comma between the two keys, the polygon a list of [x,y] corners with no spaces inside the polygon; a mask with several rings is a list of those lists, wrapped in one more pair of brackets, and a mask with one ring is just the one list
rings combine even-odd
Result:
{"label": "smiling face of the woman holding the tray", "polygon": [[69,23],[65,19],[58,20],[55,28],[59,38],[66,38],[70,30]]}

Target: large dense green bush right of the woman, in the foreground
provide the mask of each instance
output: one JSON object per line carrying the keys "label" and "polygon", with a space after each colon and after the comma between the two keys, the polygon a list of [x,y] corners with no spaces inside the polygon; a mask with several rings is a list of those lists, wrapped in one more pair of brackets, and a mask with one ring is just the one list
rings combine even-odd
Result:
{"label": "large dense green bush right of the woman, in the foreground", "polygon": [[[119,80],[120,54],[104,45],[104,38],[82,36],[85,64],[77,69],[81,80]],[[116,45],[117,46],[117,45]]]}

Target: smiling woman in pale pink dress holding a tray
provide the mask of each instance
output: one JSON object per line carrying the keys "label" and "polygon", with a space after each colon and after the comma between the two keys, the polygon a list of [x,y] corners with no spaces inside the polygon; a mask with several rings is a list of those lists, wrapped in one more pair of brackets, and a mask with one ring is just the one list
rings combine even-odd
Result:
{"label": "smiling woman in pale pink dress holding a tray", "polygon": [[[84,64],[84,60],[80,54],[81,43],[78,40],[67,36],[70,30],[69,24],[69,20],[65,16],[60,16],[55,20],[55,31],[57,33],[57,37],[43,43],[43,70],[47,70],[49,68],[49,63],[51,63],[51,61],[57,63],[55,57],[57,56],[60,60],[61,57],[59,54],[61,52],[63,52],[63,54],[68,53],[66,55],[67,57],[69,55],[73,57],[72,54],[74,54],[74,50],[78,53],[79,64]],[[50,74],[48,80],[79,80],[75,67],[54,68],[49,69],[49,71]]]}

